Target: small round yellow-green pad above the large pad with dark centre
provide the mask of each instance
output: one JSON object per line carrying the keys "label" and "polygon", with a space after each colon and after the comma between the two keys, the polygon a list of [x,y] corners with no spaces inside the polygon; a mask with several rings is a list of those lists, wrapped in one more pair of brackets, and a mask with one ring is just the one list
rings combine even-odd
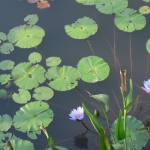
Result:
{"label": "small round yellow-green pad above the large pad with dark centre", "polygon": [[42,60],[42,56],[40,53],[33,52],[29,55],[28,59],[32,64],[35,64]]}

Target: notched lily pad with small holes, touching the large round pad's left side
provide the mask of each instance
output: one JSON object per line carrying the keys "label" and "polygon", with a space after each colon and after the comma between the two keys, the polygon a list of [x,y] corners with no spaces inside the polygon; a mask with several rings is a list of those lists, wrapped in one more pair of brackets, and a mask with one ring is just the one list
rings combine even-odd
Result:
{"label": "notched lily pad with small holes, touching the large round pad's left side", "polygon": [[50,81],[48,84],[51,88],[58,91],[68,91],[78,85],[81,77],[80,72],[71,66],[52,67],[48,69],[46,77]]}

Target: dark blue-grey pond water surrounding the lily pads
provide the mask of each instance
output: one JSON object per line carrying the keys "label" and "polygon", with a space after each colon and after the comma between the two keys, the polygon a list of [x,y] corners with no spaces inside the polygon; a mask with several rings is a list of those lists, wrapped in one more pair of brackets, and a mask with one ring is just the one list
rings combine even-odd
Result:
{"label": "dark blue-grey pond water surrounding the lily pads", "polygon": [[[49,3],[50,8],[40,10],[36,4],[30,4],[27,0],[0,1],[0,32],[7,34],[10,29],[24,24],[23,19],[29,14],[38,15],[37,25],[45,31],[45,37],[37,49],[15,47],[10,55],[0,54],[0,60],[11,59],[18,64],[28,61],[28,55],[37,51],[44,56],[42,65],[45,64],[44,58],[58,56],[62,59],[61,66],[76,67],[78,61],[83,57],[90,55],[102,57],[110,65],[109,77],[94,84],[80,80],[78,86],[73,90],[54,91],[54,97],[48,101],[50,108],[54,111],[54,120],[46,128],[56,145],[64,146],[69,150],[98,150],[98,135],[89,131],[86,133],[81,123],[69,120],[69,113],[73,108],[81,106],[82,102],[91,112],[99,107],[98,103],[91,99],[85,90],[92,94],[107,94],[110,96],[111,102],[108,116],[110,122],[113,122],[118,116],[119,109],[122,108],[119,71],[126,69],[127,83],[130,78],[134,83],[133,99],[136,100],[139,96],[136,109],[134,107],[129,114],[137,117],[143,123],[149,120],[150,97],[141,89],[143,81],[150,76],[149,54],[145,48],[146,41],[150,36],[149,15],[145,15],[147,23],[144,29],[125,33],[114,26],[113,15],[101,14],[95,9],[95,6],[84,6],[71,0],[49,0]],[[136,2],[132,0],[129,1],[128,7],[138,10],[144,4],[141,0],[136,0]],[[70,38],[65,33],[64,26],[83,16],[91,17],[97,22],[98,32],[85,40]],[[21,106],[23,105],[16,104],[11,98],[1,99],[0,114],[9,114],[13,117]],[[102,117],[104,117],[103,114]],[[99,120],[106,126],[105,120]],[[85,116],[84,122],[94,131],[88,116]],[[13,127],[11,132],[17,137],[30,140],[25,133],[16,131]],[[38,139],[30,141],[34,143],[36,150],[48,148],[43,133],[38,135]],[[150,144],[148,143],[143,149],[148,150],[149,148]]]}

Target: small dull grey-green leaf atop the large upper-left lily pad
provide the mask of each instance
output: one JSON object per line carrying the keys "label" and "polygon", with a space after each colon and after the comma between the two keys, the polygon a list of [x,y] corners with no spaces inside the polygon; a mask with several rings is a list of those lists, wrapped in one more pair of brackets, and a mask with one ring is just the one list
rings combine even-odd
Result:
{"label": "small dull grey-green leaf atop the large upper-left lily pad", "polygon": [[38,20],[39,18],[36,14],[28,15],[24,18],[24,21],[31,26],[35,25]]}

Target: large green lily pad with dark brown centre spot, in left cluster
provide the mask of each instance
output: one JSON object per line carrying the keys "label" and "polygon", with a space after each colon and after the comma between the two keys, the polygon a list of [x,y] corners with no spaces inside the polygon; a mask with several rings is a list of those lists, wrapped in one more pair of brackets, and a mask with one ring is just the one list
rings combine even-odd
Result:
{"label": "large green lily pad with dark brown centre spot, in left cluster", "polygon": [[39,64],[32,65],[29,62],[20,63],[12,69],[14,83],[22,89],[33,89],[43,83],[45,69]]}

